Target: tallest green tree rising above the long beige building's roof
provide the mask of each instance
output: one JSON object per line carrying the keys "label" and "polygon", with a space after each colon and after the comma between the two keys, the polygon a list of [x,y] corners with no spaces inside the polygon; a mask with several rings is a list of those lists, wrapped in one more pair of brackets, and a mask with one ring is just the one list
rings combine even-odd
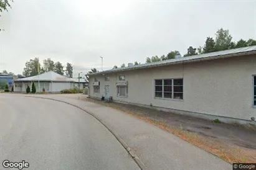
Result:
{"label": "tallest green tree rising above the long beige building's roof", "polygon": [[228,50],[230,48],[230,43],[232,36],[229,34],[229,30],[219,29],[216,32],[215,48],[216,51]]}

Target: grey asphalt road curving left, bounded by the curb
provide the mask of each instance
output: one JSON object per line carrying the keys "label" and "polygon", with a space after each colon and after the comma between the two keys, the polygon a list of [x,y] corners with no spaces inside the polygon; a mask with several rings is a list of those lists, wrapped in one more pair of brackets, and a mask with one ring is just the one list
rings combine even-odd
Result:
{"label": "grey asphalt road curving left, bounded by the curb", "polygon": [[5,159],[24,169],[140,169],[91,115],[31,97],[0,96],[0,169]]}

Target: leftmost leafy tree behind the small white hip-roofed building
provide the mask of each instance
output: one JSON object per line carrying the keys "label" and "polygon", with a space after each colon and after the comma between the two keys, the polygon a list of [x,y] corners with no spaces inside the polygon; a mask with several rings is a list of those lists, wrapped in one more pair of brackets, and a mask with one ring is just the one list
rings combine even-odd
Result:
{"label": "leftmost leafy tree behind the small white hip-roofed building", "polygon": [[40,71],[39,58],[29,60],[25,63],[24,76],[36,76]]}

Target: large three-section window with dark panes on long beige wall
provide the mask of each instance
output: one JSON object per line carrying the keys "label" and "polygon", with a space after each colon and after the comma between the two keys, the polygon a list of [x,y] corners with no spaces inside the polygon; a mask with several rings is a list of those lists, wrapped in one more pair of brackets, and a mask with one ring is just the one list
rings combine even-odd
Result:
{"label": "large three-section window with dark panes on long beige wall", "polygon": [[155,79],[154,97],[183,99],[183,79]]}

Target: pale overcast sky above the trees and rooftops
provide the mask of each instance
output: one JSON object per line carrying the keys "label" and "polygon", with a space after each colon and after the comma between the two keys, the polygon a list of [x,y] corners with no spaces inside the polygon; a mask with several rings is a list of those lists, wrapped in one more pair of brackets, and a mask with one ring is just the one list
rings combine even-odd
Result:
{"label": "pale overcast sky above the trees and rooftops", "polygon": [[2,12],[1,68],[26,61],[72,63],[75,74],[203,46],[220,27],[233,40],[256,39],[256,1],[21,1]]}

